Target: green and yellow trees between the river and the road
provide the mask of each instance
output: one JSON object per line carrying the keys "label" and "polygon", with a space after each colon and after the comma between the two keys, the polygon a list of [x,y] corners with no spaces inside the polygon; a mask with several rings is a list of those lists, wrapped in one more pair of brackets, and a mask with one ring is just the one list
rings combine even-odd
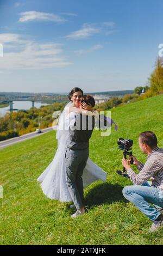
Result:
{"label": "green and yellow trees between the river and the road", "polygon": [[66,102],[55,102],[53,105],[41,106],[10,112],[0,118],[0,141],[34,132],[37,128],[51,127],[54,111],[62,111]]}

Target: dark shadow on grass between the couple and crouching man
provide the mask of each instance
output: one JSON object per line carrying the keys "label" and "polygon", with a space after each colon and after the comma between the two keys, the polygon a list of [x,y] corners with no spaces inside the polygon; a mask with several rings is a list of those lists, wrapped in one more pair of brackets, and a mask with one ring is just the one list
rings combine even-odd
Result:
{"label": "dark shadow on grass between the couple and crouching man", "polygon": [[119,184],[109,184],[104,183],[92,188],[86,194],[85,197],[85,205],[87,206],[97,206],[101,204],[111,204],[113,202],[127,202],[127,200],[123,197],[122,194],[123,187]]}

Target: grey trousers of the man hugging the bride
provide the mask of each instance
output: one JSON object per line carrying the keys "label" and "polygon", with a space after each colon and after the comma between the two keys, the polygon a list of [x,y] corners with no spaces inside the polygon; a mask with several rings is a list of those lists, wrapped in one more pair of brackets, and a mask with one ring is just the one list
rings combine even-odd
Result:
{"label": "grey trousers of the man hugging the bride", "polygon": [[70,192],[72,201],[77,210],[82,209],[84,205],[83,191],[83,170],[89,157],[89,148],[86,149],[66,149],[65,153],[65,171],[66,184]]}

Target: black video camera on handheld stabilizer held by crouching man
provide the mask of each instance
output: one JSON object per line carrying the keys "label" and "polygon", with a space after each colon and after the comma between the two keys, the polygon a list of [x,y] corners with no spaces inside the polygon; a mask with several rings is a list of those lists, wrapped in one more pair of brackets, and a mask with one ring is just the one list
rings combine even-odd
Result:
{"label": "black video camera on handheld stabilizer held by crouching man", "polygon": [[[127,159],[127,155],[129,156],[132,156],[133,153],[130,151],[132,150],[132,145],[133,145],[133,141],[132,139],[123,139],[123,138],[119,138],[118,141],[117,141],[117,144],[119,145],[118,149],[121,149],[123,150],[123,155],[124,155],[124,158]],[[130,152],[129,152],[130,151]],[[133,158],[131,158],[131,161],[130,163],[133,164]],[[129,175],[128,174],[125,174],[126,173],[126,168],[123,167],[123,171],[121,170],[117,170],[117,174],[125,177],[125,178],[129,178]]]}

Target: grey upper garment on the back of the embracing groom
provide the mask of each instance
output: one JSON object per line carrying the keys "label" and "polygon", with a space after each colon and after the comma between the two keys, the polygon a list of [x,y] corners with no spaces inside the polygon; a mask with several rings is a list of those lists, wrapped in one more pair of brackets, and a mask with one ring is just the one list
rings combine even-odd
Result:
{"label": "grey upper garment on the back of the embracing groom", "polygon": [[89,139],[95,127],[95,118],[72,112],[70,119],[70,136],[67,147],[71,149],[88,148]]}

